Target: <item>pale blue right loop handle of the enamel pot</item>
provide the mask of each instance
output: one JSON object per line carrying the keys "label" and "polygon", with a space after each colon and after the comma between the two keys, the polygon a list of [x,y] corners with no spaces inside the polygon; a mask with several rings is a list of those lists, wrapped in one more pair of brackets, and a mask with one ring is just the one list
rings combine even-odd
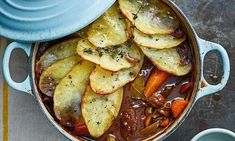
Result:
{"label": "pale blue right loop handle of the enamel pot", "polygon": [[201,69],[202,69],[201,83],[203,81],[206,86],[203,87],[203,88],[199,88],[196,100],[200,99],[203,96],[218,92],[221,89],[223,89],[225,87],[225,85],[227,84],[227,81],[229,79],[229,74],[230,74],[229,57],[228,57],[228,54],[227,54],[226,50],[221,45],[213,43],[213,42],[205,41],[205,40],[199,38],[199,46],[200,46],[200,55],[201,55],[202,61],[204,61],[205,55],[208,52],[213,51],[213,50],[216,50],[216,51],[219,52],[220,57],[221,57],[222,62],[223,62],[224,75],[223,75],[223,77],[221,79],[221,82],[219,84],[210,85],[204,79],[204,76],[203,76],[204,63],[202,62],[202,66],[201,66]]}

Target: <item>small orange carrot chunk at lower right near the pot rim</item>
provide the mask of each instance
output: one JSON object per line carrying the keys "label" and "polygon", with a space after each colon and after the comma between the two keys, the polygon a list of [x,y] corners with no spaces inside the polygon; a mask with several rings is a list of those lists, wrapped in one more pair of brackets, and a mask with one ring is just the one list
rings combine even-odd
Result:
{"label": "small orange carrot chunk at lower right near the pot rim", "polygon": [[185,107],[188,105],[188,101],[183,99],[176,99],[171,104],[171,112],[174,118],[178,118],[179,115],[184,111]]}

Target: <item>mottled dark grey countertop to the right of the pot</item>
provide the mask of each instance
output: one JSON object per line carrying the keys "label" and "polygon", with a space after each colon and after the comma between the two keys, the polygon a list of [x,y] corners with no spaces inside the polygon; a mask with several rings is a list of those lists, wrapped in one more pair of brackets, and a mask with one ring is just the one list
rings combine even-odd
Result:
{"label": "mottled dark grey countertop to the right of the pot", "polygon": [[[229,54],[231,74],[227,86],[216,95],[200,99],[185,122],[166,141],[188,141],[207,128],[235,132],[235,0],[174,0],[191,21],[199,37],[221,44]],[[205,75],[220,74],[221,61],[211,54]]]}

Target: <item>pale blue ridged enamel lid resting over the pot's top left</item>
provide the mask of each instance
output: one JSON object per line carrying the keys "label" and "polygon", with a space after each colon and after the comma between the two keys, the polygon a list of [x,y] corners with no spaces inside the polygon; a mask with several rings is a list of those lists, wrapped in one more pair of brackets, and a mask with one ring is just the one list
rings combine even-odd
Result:
{"label": "pale blue ridged enamel lid resting over the pot's top left", "polygon": [[57,39],[87,26],[115,0],[1,0],[0,35],[20,42]]}

